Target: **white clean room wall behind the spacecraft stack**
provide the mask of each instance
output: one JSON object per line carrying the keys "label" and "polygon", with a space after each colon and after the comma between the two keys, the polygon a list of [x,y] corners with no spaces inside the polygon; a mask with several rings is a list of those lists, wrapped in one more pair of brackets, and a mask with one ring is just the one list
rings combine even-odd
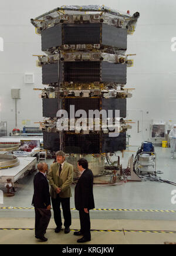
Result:
{"label": "white clean room wall behind the spacecraft stack", "polygon": [[[30,23],[31,18],[59,5],[86,5],[87,1],[23,1],[6,0],[0,5],[0,37],[4,52],[0,52],[1,120],[8,122],[8,133],[15,127],[15,102],[11,89],[21,89],[18,100],[18,127],[22,120],[42,120],[42,101],[33,87],[42,88],[42,72],[32,54],[41,54],[40,36]],[[90,1],[89,4],[102,4]],[[174,0],[104,0],[104,5],[131,14],[139,11],[137,29],[128,37],[128,53],[136,53],[134,67],[128,69],[127,87],[134,87],[128,99],[128,110],[143,110],[143,140],[149,139],[151,120],[176,122],[176,52],[171,51],[171,38],[176,36],[176,2]],[[34,74],[34,84],[24,83],[25,73]]]}

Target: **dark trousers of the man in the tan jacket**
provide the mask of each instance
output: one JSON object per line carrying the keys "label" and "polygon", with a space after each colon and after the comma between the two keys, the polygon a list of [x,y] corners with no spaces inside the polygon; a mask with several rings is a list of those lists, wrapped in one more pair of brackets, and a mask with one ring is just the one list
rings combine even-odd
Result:
{"label": "dark trousers of the man in the tan jacket", "polygon": [[52,206],[54,211],[54,218],[57,227],[62,227],[62,218],[60,211],[60,204],[62,205],[64,225],[66,228],[69,228],[72,225],[72,215],[70,211],[70,198],[61,198],[57,194],[56,198],[52,198]]}

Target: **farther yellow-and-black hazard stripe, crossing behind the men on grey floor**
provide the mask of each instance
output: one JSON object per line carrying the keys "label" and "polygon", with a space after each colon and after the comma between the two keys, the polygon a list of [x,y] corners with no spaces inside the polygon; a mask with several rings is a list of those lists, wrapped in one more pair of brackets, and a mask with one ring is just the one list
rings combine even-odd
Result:
{"label": "farther yellow-and-black hazard stripe, crossing behind the men on grey floor", "polygon": [[[0,207],[0,210],[34,210],[33,207]],[[75,211],[76,208],[71,208]],[[141,213],[176,213],[174,210],[143,210],[143,209],[114,209],[114,208],[96,208],[93,211],[131,211],[131,212],[141,212]]]}

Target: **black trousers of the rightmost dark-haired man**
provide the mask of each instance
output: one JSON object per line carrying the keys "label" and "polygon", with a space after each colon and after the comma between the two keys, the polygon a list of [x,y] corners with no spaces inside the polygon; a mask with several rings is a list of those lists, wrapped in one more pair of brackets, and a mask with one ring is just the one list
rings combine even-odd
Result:
{"label": "black trousers of the rightmost dark-haired man", "polygon": [[80,231],[83,234],[84,238],[91,240],[90,234],[90,214],[85,213],[84,210],[79,211],[80,217]]}

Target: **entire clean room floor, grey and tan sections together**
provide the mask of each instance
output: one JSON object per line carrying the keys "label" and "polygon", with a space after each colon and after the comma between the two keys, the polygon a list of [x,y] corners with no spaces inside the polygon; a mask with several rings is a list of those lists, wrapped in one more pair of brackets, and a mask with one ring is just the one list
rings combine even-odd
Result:
{"label": "entire clean room floor, grey and tan sections together", "polygon": [[[129,150],[137,151],[137,147],[130,147]],[[164,174],[161,174],[162,178],[165,178],[170,181],[176,182],[176,155],[175,159],[170,159],[170,149],[163,149],[162,147],[155,147],[157,153],[157,170],[163,171]],[[127,167],[128,158],[131,156],[131,152],[126,152],[124,154],[124,159],[121,159],[123,168]],[[48,163],[51,163],[51,160],[48,160]],[[33,210],[15,210],[13,207],[32,207],[32,195],[33,195],[33,175],[27,176],[19,180],[18,191],[15,194],[15,197],[5,197],[4,205],[2,207],[12,207],[8,210],[0,210],[0,228],[23,228],[23,220],[25,221],[25,228],[33,228],[34,222],[34,211]],[[3,186],[0,186],[0,189],[4,190]],[[176,210],[176,206],[171,203],[171,192],[176,190],[175,186],[165,183],[144,181],[136,182],[131,181],[120,186],[95,186],[94,187],[94,198],[96,208],[117,208],[117,209],[133,209],[138,211],[91,211],[91,218],[93,221],[93,229],[107,229],[111,230],[114,228],[127,228],[130,230],[158,230],[158,231],[173,231],[176,230],[176,214],[167,213],[167,212],[150,212],[150,211],[140,211],[140,210]],[[73,197],[71,198],[71,207],[75,208],[74,205],[74,186],[72,186]],[[72,210],[73,218],[73,227],[79,228],[79,215],[77,211]],[[106,225],[104,224],[106,222]],[[123,225],[119,224],[123,221]],[[147,223],[148,221],[148,223]],[[158,223],[156,223],[158,221]],[[171,221],[171,222],[170,222]],[[9,223],[9,224],[8,224]],[[15,223],[15,226],[12,224]],[[29,223],[29,224],[28,224]],[[112,224],[113,223],[113,224]],[[124,225],[128,223],[129,225]],[[118,225],[117,225],[118,224]],[[131,227],[133,224],[133,227]],[[156,225],[155,225],[156,224]],[[157,225],[158,224],[158,225]],[[50,224],[50,228],[54,228],[53,219]],[[6,234],[7,237],[10,235],[11,238],[14,238],[15,233],[18,237],[20,235],[26,234],[28,237],[33,235],[33,231],[5,231],[0,230],[0,233]],[[49,230],[49,235],[53,237],[53,230]],[[28,233],[28,234],[27,234]],[[94,233],[93,233],[94,234]],[[176,234],[161,234],[161,233],[150,233],[150,234],[139,234],[139,233],[103,233],[104,239],[102,241],[111,241],[111,236],[114,235],[117,240],[117,243],[135,243],[139,242],[141,236],[141,242],[144,242],[146,236],[148,240],[145,242],[164,242],[164,241],[176,241]],[[101,236],[103,235],[101,234]],[[94,234],[95,236],[95,234]],[[100,236],[99,236],[100,237]],[[154,238],[155,237],[155,238]],[[144,241],[143,241],[144,238]],[[103,238],[102,238],[103,239]],[[109,240],[110,239],[110,240]],[[126,240],[127,239],[127,240]],[[70,244],[74,243],[74,237],[70,237]],[[15,240],[10,240],[10,242],[15,243]],[[5,242],[5,237],[3,240],[0,240],[0,243]],[[25,242],[25,241],[24,241]],[[33,241],[34,242],[34,241]],[[52,241],[51,241],[52,242]],[[53,242],[56,242],[53,237]],[[61,240],[60,243],[63,241]],[[69,242],[69,241],[68,241]],[[99,242],[99,241],[97,241]],[[115,242],[115,241],[114,241]],[[116,243],[115,242],[115,243]],[[95,242],[96,243],[96,242]],[[101,243],[101,242],[100,242]],[[105,243],[105,242],[104,242]],[[108,242],[107,242],[108,243]]]}

